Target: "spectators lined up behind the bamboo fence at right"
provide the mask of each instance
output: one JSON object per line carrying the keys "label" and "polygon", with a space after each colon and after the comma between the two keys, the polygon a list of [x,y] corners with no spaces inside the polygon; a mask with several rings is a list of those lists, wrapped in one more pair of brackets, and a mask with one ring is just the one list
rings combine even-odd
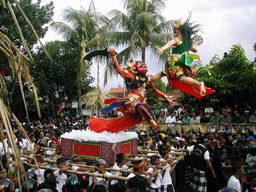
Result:
{"label": "spectators lined up behind the bamboo fence at right", "polygon": [[244,106],[235,103],[232,108],[209,103],[205,106],[180,103],[173,107],[154,104],[148,111],[158,123],[256,123],[256,110],[248,103]]}

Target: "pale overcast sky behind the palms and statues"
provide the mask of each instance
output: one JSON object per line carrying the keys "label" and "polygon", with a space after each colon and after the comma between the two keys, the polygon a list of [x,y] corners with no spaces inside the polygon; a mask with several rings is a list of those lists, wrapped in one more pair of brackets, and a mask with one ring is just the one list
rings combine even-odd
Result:
{"label": "pale overcast sky behind the palms and statues", "polygon": [[[41,5],[49,3],[49,0],[41,0]],[[90,0],[53,0],[54,3],[54,22],[61,21],[61,12],[64,8],[71,6],[74,9],[88,9]],[[125,12],[122,0],[94,0],[96,11],[107,14],[110,10],[118,9]],[[253,60],[253,44],[256,42],[256,1],[255,0],[179,0],[166,1],[166,8],[163,16],[166,20],[173,20],[182,17],[185,20],[188,12],[193,10],[190,21],[195,21],[202,25],[203,33],[200,34],[204,42],[198,47],[198,54],[204,65],[215,55],[223,57],[224,52],[228,52],[234,44],[240,44],[245,49],[246,57]],[[61,36],[51,29],[47,32],[43,42],[52,40],[62,40]],[[150,55],[146,55],[148,73],[156,74],[161,71],[151,62]],[[92,67],[92,76],[96,79],[96,65]],[[101,78],[102,79],[102,78]],[[166,77],[163,78],[164,82]],[[110,88],[117,88],[118,83],[122,86],[121,78],[109,80],[108,85],[101,88],[109,91]],[[93,86],[96,85],[96,82]]]}

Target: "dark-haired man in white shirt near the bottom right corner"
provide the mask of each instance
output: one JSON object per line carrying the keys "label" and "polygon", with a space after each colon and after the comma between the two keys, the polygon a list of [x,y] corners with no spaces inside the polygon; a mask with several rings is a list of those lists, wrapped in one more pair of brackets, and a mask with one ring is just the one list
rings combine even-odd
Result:
{"label": "dark-haired man in white shirt near the bottom right corner", "polygon": [[243,176],[244,173],[244,162],[233,161],[232,169],[234,174],[229,178],[227,186],[236,189],[238,192],[242,192],[239,179]]}

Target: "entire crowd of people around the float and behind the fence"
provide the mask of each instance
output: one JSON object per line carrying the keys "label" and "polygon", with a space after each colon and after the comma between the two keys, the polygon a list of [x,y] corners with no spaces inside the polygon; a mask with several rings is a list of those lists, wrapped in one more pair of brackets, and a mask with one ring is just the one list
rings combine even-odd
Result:
{"label": "entire crowd of people around the float and behind the fence", "polygon": [[[195,123],[246,122],[255,124],[256,111],[253,111],[248,103],[244,108],[240,109],[234,106],[231,109],[229,106],[216,108],[207,103],[205,108],[198,105],[180,104],[167,108],[162,105],[158,109],[156,105],[153,105],[148,108],[148,111],[159,123],[193,123],[191,119],[195,119]],[[121,112],[113,114],[121,115]],[[230,117],[230,121],[225,121],[227,117]],[[238,121],[239,118],[244,121]],[[231,133],[230,130],[223,132],[216,130],[208,133],[190,130],[177,133],[175,127],[169,127],[166,131],[130,129],[138,134],[138,156],[134,157],[137,161],[126,162],[124,154],[118,154],[116,163],[112,165],[104,159],[88,161],[80,156],[72,159],[61,157],[60,136],[72,130],[89,129],[87,117],[69,115],[59,119],[49,118],[30,123],[23,122],[30,141],[25,138],[24,132],[14,120],[10,122],[29,178],[29,186],[26,185],[26,182],[21,183],[24,191],[27,188],[30,191],[41,192],[217,191],[223,187],[231,187],[237,191],[255,191],[256,138],[255,133],[250,129],[236,130],[234,133]],[[3,189],[18,191],[18,166],[6,132],[4,132],[2,141],[0,154],[3,166],[1,165],[0,170],[0,191]],[[185,154],[177,155],[173,152],[184,152]],[[30,158],[33,155],[39,165],[48,159],[52,162],[46,167],[58,169],[31,166],[31,164],[35,164],[33,158]],[[77,164],[86,163],[92,166],[77,166]],[[127,163],[133,164],[132,173],[123,173],[123,176],[130,178],[129,181],[97,177],[97,174],[112,176],[119,173],[109,171],[111,167],[113,169],[129,169]],[[90,177],[86,174],[75,175],[69,170],[90,172],[94,175]],[[244,175],[246,178],[243,177]]]}

